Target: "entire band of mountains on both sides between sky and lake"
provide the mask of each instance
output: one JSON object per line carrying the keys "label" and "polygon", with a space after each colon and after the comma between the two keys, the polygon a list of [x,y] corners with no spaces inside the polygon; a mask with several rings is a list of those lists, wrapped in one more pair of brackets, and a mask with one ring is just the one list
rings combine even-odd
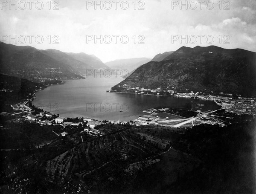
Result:
{"label": "entire band of mountains on both sides between sky and lake", "polygon": [[[161,61],[160,61],[161,60]],[[256,53],[217,46],[181,47],[149,58],[119,59],[103,63],[94,55],[39,50],[0,42],[0,73],[22,78],[84,78],[87,69],[126,69],[118,85],[256,95]],[[136,70],[135,70],[136,69]],[[10,71],[14,74],[10,74]],[[7,72],[7,73],[6,73]],[[33,72],[33,73],[31,73]],[[51,74],[49,75],[49,72]]]}

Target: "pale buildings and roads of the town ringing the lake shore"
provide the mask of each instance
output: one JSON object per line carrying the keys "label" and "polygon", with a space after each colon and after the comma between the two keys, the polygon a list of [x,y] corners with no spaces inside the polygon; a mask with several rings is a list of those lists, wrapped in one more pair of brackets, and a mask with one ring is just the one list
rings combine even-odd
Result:
{"label": "pale buildings and roads of the town ringing the lake shore", "polygon": [[[156,95],[160,95],[160,93],[157,93],[156,90],[148,90],[140,87],[131,88],[129,86],[122,87],[126,87],[130,90],[135,89],[136,94],[148,95],[148,91],[150,91],[150,95],[154,95],[154,93],[156,93]],[[175,90],[167,90],[166,93],[168,93],[169,96],[192,98],[192,100],[195,98],[214,101],[219,106],[219,109],[203,112],[202,107],[200,106],[204,106],[204,104],[193,103],[192,101],[191,110],[186,110],[187,112],[190,112],[190,115],[186,116],[180,115],[179,112],[170,111],[172,108],[163,107],[159,109],[151,108],[148,110],[143,110],[143,113],[145,113],[144,115],[139,116],[134,121],[129,122],[113,120],[98,121],[96,119],[87,117],[70,119],[52,114],[47,111],[40,111],[41,109],[39,107],[33,106],[32,101],[36,98],[35,93],[39,90],[42,90],[42,88],[35,90],[34,93],[29,93],[25,102],[11,104],[10,106],[13,109],[13,113],[2,112],[0,114],[2,116],[16,116],[16,119],[12,119],[12,121],[15,122],[28,121],[40,125],[58,125],[62,130],[61,133],[56,133],[58,136],[66,136],[68,134],[66,132],[67,129],[78,127],[82,128],[81,133],[87,133],[92,136],[102,136],[104,133],[98,129],[100,126],[108,124],[134,126],[156,125],[162,127],[178,128],[180,133],[184,133],[186,127],[192,127],[203,123],[220,126],[228,125],[228,122],[225,121],[225,119],[233,119],[233,116],[227,116],[227,114],[223,113],[230,113],[233,115],[248,114],[252,115],[253,118],[255,118],[256,115],[255,98],[246,98],[242,97],[241,95],[233,95],[222,92],[219,93],[219,95],[214,96],[201,92],[194,93],[191,91],[187,93],[177,93]],[[108,90],[108,92],[116,91]]]}

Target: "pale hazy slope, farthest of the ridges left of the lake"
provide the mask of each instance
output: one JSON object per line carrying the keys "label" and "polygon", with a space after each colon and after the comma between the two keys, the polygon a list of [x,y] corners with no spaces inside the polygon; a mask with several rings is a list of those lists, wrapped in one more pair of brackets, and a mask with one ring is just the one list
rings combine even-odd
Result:
{"label": "pale hazy slope, farthest of the ridges left of the lake", "polygon": [[99,58],[97,58],[94,55],[87,55],[84,52],[65,52],[65,54],[71,56],[77,61],[81,61],[84,64],[90,65],[93,69],[110,69],[107,65],[105,65]]}

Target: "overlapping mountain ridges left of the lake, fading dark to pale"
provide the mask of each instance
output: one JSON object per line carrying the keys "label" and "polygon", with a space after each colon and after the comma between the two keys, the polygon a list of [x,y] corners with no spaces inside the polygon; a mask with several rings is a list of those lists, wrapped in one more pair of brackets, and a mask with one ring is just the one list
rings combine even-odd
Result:
{"label": "overlapping mountain ridges left of the lake, fading dark to pale", "polygon": [[49,71],[53,71],[54,78],[83,78],[87,69],[109,69],[94,55],[65,53],[55,49],[39,50],[3,42],[0,42],[0,64],[2,73],[16,71],[15,75],[20,73],[25,75],[24,78],[36,71],[37,75],[46,77]]}

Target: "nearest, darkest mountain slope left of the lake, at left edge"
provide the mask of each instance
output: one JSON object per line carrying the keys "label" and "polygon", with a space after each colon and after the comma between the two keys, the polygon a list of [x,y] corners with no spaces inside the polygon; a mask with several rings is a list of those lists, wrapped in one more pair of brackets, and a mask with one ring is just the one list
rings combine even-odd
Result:
{"label": "nearest, darkest mountain slope left of the lake, at left edge", "polygon": [[[82,78],[76,69],[57,61],[31,46],[15,46],[0,42],[1,72],[29,78]],[[51,72],[50,72],[51,71]]]}

